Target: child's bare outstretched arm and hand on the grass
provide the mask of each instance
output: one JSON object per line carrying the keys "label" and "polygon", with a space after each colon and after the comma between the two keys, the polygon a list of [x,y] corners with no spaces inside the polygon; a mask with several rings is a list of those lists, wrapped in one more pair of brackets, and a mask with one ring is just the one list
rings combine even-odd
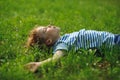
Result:
{"label": "child's bare outstretched arm and hand on the grass", "polygon": [[49,63],[51,61],[58,61],[63,55],[64,55],[64,51],[63,50],[58,50],[56,51],[56,53],[53,55],[53,57],[48,58],[44,61],[41,62],[30,62],[28,64],[25,65],[25,68],[27,68],[28,70],[30,70],[31,72],[35,72],[40,66]]}

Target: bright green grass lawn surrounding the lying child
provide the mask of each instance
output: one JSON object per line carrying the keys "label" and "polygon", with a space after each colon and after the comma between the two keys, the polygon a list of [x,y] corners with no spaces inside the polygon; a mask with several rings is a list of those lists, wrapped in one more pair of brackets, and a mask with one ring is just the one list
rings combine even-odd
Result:
{"label": "bright green grass lawn surrounding the lying child", "polygon": [[120,48],[69,52],[58,63],[37,73],[24,64],[52,56],[36,48],[25,52],[29,31],[35,25],[53,24],[61,35],[80,29],[120,34],[119,0],[0,0],[0,80],[120,80]]}

